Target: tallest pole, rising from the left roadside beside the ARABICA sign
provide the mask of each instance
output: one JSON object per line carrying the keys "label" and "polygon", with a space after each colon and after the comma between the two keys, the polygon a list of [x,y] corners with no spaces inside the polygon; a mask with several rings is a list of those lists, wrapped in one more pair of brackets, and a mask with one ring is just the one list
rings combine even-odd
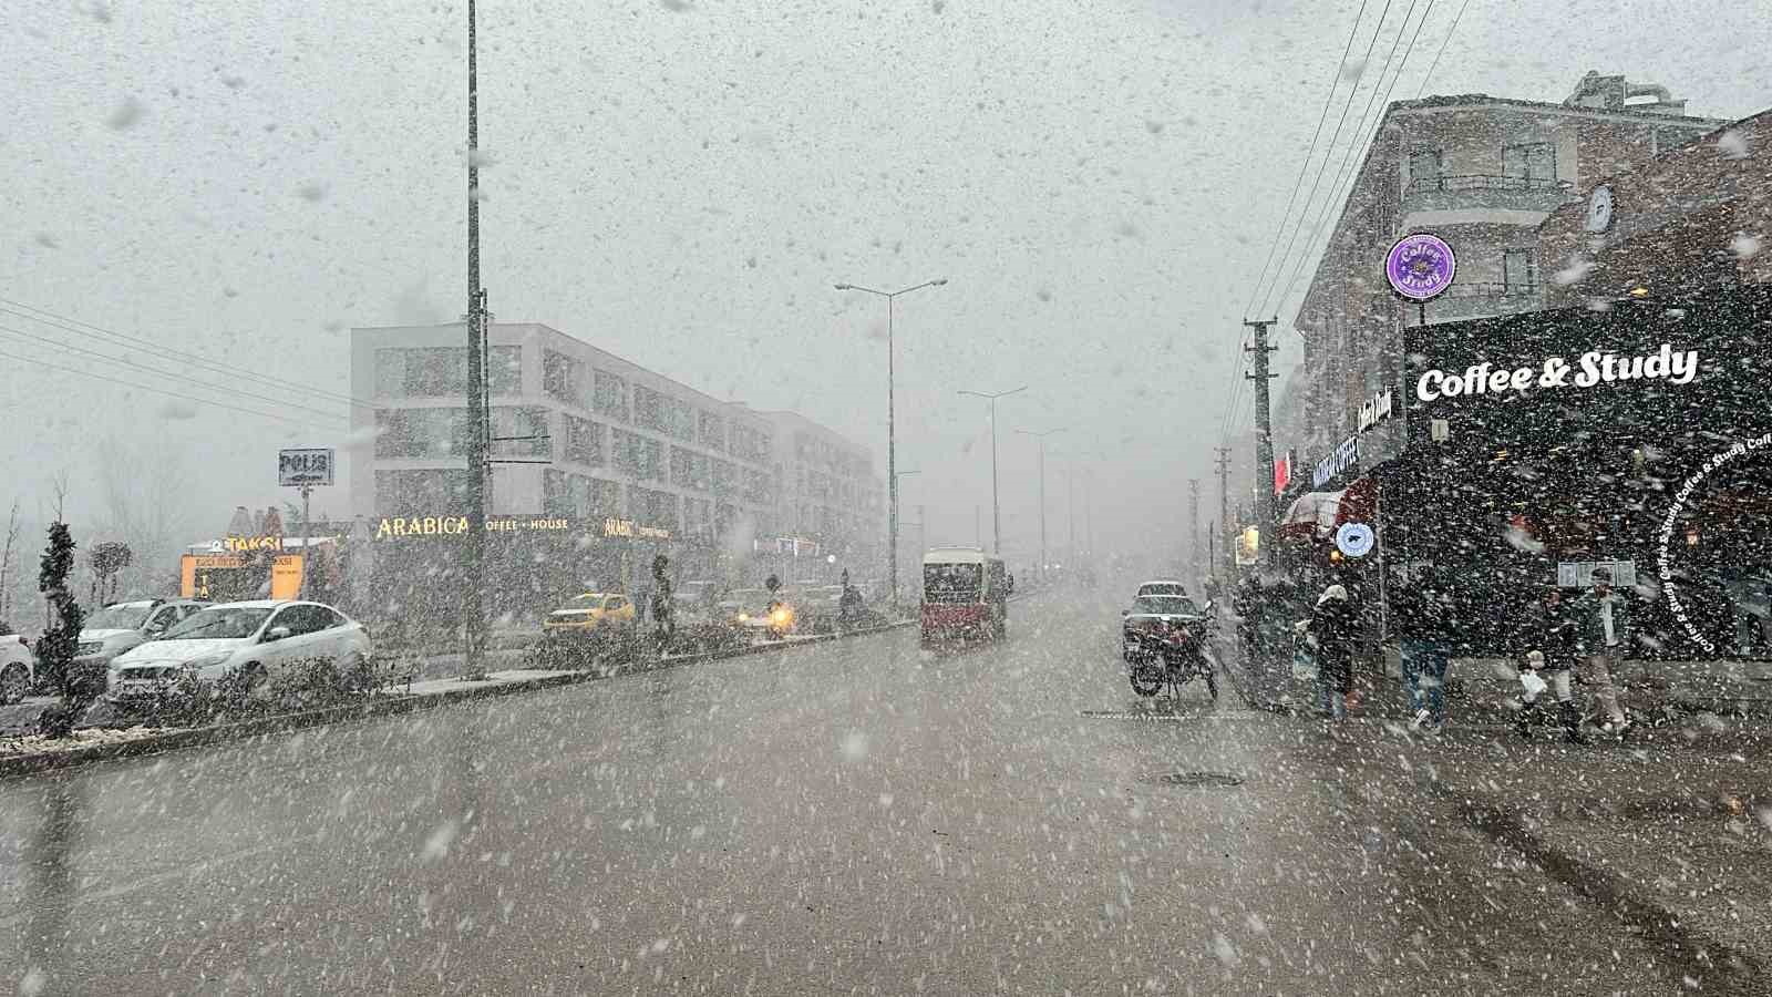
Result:
{"label": "tallest pole, rising from the left roadside beside the ARABICA sign", "polygon": [[486,678],[486,291],[480,289],[480,90],[468,0],[468,536],[462,538],[464,678]]}

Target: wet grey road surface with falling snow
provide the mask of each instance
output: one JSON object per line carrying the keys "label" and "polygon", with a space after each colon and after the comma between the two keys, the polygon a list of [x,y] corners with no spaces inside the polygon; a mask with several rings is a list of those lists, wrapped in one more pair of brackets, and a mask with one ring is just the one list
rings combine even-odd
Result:
{"label": "wet grey road surface with falling snow", "polygon": [[999,648],[897,632],[5,782],[0,965],[27,993],[1678,986],[1302,720],[1228,687],[1086,715],[1145,708],[1116,624],[1042,596]]}

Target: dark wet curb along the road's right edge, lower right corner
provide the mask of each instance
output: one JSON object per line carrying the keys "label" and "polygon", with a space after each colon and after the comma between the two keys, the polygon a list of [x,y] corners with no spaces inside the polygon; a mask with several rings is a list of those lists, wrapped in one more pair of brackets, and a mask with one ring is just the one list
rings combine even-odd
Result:
{"label": "dark wet curb along the road's right edge, lower right corner", "polygon": [[1689,928],[1680,915],[1653,899],[1637,894],[1623,876],[1605,866],[1586,862],[1570,852],[1552,848],[1533,834],[1520,814],[1469,795],[1458,798],[1435,782],[1442,798],[1455,800],[1458,814],[1488,837],[1522,852],[1550,878],[1570,887],[1582,898],[1607,910],[1627,926],[1664,946],[1675,965],[1705,990],[1717,993],[1744,993],[1756,981],[1765,981],[1767,969],[1753,953],[1719,942],[1698,928]]}

